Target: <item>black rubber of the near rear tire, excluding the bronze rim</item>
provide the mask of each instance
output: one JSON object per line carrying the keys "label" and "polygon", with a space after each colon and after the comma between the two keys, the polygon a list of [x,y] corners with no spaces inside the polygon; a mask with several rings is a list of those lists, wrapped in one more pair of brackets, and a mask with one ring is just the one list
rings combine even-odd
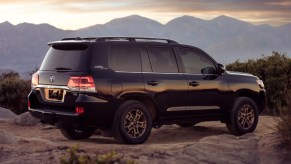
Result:
{"label": "black rubber of the near rear tire, excluding the bronze rim", "polygon": [[[139,109],[140,111],[143,112],[143,114],[146,117],[146,121],[147,121],[147,127],[145,129],[145,132],[143,133],[142,136],[138,137],[138,138],[132,138],[131,136],[129,136],[125,130],[125,128],[123,127],[124,125],[124,121],[125,121],[125,116],[127,115],[128,112],[132,111],[133,109]],[[146,106],[139,102],[139,101],[134,101],[134,100],[130,100],[127,101],[125,103],[123,103],[117,113],[116,113],[116,133],[115,136],[117,136],[117,138],[122,139],[123,142],[127,143],[127,144],[141,144],[143,142],[145,142],[147,140],[147,138],[149,137],[150,133],[151,133],[151,129],[152,129],[152,119],[150,116],[149,111],[147,110]]]}

